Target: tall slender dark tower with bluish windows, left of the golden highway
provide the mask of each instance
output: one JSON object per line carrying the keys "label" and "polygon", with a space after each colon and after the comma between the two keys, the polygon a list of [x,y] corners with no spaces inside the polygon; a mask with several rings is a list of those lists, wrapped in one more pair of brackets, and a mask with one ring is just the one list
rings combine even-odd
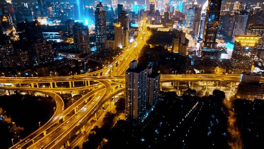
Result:
{"label": "tall slender dark tower with bluish windows, left of the golden highway", "polygon": [[96,5],[96,10],[94,12],[95,17],[95,36],[96,36],[96,46],[101,49],[104,47],[106,41],[106,10],[103,7],[102,2]]}

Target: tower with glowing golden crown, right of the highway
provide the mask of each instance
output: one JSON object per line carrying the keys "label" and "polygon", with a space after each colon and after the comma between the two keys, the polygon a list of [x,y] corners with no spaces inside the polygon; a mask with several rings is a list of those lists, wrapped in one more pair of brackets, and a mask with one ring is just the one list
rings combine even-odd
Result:
{"label": "tower with glowing golden crown, right of the highway", "polygon": [[229,72],[234,74],[250,73],[259,37],[237,35],[230,59]]}

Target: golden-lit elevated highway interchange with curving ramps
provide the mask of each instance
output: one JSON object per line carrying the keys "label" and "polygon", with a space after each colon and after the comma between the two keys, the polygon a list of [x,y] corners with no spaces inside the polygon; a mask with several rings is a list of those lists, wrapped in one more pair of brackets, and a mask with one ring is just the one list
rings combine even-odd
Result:
{"label": "golden-lit elevated highway interchange with curving ramps", "polygon": [[[113,96],[125,90],[124,73],[130,62],[137,59],[140,50],[150,38],[151,32],[147,30],[146,19],[140,22],[139,34],[136,40],[107,67],[82,75],[54,76],[54,77],[0,77],[0,83],[10,83],[12,86],[3,86],[0,89],[24,90],[42,92],[56,101],[56,111],[52,118],[40,129],[36,130],[22,141],[16,143],[10,149],[59,149],[62,146],[74,147],[68,142],[73,136],[78,138],[87,137],[89,129],[84,127],[87,121],[94,116],[96,111]],[[239,82],[240,75],[161,75],[161,82],[173,81],[230,81]],[[58,83],[67,84],[58,88]],[[82,84],[81,87],[74,85]],[[93,84],[90,84],[90,83]],[[261,79],[264,82],[264,78]],[[41,88],[45,84],[48,88]],[[81,99],[64,110],[61,97],[55,92],[90,90]],[[102,119],[99,119],[98,123]],[[45,134],[44,134],[45,133]],[[77,134],[78,133],[78,134]],[[73,138],[74,139],[74,138]],[[28,140],[28,141],[26,141]],[[78,142],[81,144],[80,142]],[[68,147],[67,147],[68,148]]]}

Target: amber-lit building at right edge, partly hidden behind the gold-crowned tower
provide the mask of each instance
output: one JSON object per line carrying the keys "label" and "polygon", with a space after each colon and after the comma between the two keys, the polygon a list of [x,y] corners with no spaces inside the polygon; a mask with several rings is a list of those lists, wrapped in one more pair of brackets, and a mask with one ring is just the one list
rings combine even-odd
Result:
{"label": "amber-lit building at right edge, partly hidden behind the gold-crowned tower", "polygon": [[264,59],[264,25],[253,25],[249,26],[247,35],[256,35],[260,37],[257,45],[257,56]]}

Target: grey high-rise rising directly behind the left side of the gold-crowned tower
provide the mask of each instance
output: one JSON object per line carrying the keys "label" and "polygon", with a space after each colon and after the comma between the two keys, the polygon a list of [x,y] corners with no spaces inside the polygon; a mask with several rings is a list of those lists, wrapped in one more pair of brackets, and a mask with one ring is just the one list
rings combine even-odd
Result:
{"label": "grey high-rise rising directly behind the left side of the gold-crowned tower", "polygon": [[235,35],[244,35],[245,28],[247,24],[248,13],[246,11],[240,12],[236,16],[236,22],[234,27],[234,32],[232,36],[232,41],[235,41]]}

